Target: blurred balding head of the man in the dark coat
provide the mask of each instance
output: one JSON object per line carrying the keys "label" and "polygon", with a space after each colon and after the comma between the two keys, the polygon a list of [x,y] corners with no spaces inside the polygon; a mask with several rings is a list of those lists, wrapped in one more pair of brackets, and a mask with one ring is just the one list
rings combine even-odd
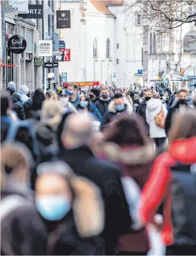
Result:
{"label": "blurred balding head of the man in the dark coat", "polygon": [[75,149],[82,145],[89,145],[93,137],[93,115],[81,111],[67,117],[62,132],[62,143],[66,149]]}

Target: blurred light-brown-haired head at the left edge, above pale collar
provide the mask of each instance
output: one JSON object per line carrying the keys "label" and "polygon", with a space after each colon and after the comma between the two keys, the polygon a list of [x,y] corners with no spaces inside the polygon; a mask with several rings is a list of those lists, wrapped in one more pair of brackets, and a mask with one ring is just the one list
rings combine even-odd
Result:
{"label": "blurred light-brown-haired head at the left edge, above pale collar", "polygon": [[6,142],[2,144],[1,185],[6,186],[8,179],[18,184],[29,182],[31,164],[31,152],[24,144],[20,142]]}

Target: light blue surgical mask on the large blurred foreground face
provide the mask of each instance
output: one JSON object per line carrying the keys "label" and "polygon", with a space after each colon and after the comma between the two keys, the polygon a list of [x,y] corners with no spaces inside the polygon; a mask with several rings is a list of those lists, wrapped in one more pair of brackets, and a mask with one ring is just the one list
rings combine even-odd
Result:
{"label": "light blue surgical mask on the large blurred foreground face", "polygon": [[57,221],[66,216],[71,203],[61,195],[44,195],[36,199],[36,208],[44,219]]}

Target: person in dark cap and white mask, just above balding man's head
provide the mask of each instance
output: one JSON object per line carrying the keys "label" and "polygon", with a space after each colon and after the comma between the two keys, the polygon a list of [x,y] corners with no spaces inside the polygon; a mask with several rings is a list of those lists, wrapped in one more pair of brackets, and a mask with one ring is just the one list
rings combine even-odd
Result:
{"label": "person in dark cap and white mask, just above balding man's head", "polygon": [[74,105],[71,102],[69,102],[69,99],[72,94],[73,94],[73,92],[69,91],[67,89],[62,89],[62,91],[60,91],[59,101],[61,104],[63,104],[63,107],[64,107],[63,113],[67,113],[67,112],[76,112],[77,113],[77,110],[74,107]]}

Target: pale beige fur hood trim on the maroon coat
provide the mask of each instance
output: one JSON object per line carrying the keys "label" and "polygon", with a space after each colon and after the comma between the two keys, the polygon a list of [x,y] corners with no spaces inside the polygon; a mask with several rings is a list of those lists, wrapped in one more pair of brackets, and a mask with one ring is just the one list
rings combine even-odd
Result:
{"label": "pale beige fur hood trim on the maroon coat", "polygon": [[109,160],[125,165],[146,165],[154,159],[156,154],[152,143],[137,148],[121,148],[114,142],[107,142],[103,152]]}

